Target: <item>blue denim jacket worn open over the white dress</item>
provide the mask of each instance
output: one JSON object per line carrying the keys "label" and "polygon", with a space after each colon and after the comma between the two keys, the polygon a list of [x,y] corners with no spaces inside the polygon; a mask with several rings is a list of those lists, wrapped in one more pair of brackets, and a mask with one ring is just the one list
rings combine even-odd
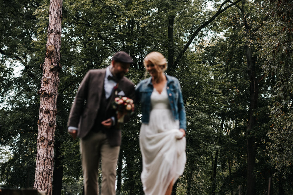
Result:
{"label": "blue denim jacket worn open over the white dress", "polygon": [[[186,130],[186,114],[180,83],[175,77],[169,75],[166,75],[166,77],[167,93],[171,105],[172,115],[174,120],[179,120],[179,128]],[[142,105],[142,123],[149,123],[149,115],[151,112],[151,93],[154,90],[151,78],[152,77],[139,82],[135,89],[136,99],[139,100]]]}

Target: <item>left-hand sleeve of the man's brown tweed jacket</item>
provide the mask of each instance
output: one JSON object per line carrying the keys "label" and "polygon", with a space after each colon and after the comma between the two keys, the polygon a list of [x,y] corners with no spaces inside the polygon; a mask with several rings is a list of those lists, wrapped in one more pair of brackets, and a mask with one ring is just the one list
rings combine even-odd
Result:
{"label": "left-hand sleeve of the man's brown tweed jacket", "polygon": [[84,79],[81,81],[78,91],[76,93],[74,102],[71,106],[67,127],[78,127],[79,119],[84,110],[84,101],[88,95],[88,81],[90,79],[90,71],[86,73]]}

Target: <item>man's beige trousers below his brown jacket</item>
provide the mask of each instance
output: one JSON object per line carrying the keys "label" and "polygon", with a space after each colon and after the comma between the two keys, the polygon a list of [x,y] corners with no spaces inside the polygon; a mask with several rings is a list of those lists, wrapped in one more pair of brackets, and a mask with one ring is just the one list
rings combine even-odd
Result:
{"label": "man's beige trousers below his brown jacket", "polygon": [[115,195],[116,165],[120,146],[110,146],[102,131],[90,131],[80,140],[85,195],[98,195],[98,169],[101,160],[102,195]]}

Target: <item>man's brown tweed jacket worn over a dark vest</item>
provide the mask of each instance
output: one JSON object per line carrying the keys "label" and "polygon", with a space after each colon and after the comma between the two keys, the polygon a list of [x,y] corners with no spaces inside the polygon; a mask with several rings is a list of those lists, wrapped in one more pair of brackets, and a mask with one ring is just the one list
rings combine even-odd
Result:
{"label": "man's brown tweed jacket worn over a dark vest", "polygon": [[[105,75],[106,69],[89,70],[81,81],[74,103],[71,106],[67,127],[78,127],[77,136],[80,138],[85,137],[94,125],[100,107]],[[126,77],[119,81],[119,88],[125,93],[126,97],[135,100],[134,84]],[[110,105],[114,98],[113,92],[106,106],[106,111],[111,109]],[[114,117],[117,122],[117,116]],[[106,129],[106,135],[111,146],[120,146],[121,129],[111,127]]]}

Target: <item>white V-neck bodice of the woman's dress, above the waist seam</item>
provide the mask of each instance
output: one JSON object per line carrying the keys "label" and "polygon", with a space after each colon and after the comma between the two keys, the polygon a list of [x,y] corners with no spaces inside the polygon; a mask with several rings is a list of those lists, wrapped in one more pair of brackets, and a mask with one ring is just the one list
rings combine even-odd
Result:
{"label": "white V-neck bodice of the woman's dress, above the waist seam", "polygon": [[151,108],[152,109],[170,109],[170,103],[168,99],[166,86],[163,88],[161,94],[157,92],[154,88],[154,91],[151,94]]}

